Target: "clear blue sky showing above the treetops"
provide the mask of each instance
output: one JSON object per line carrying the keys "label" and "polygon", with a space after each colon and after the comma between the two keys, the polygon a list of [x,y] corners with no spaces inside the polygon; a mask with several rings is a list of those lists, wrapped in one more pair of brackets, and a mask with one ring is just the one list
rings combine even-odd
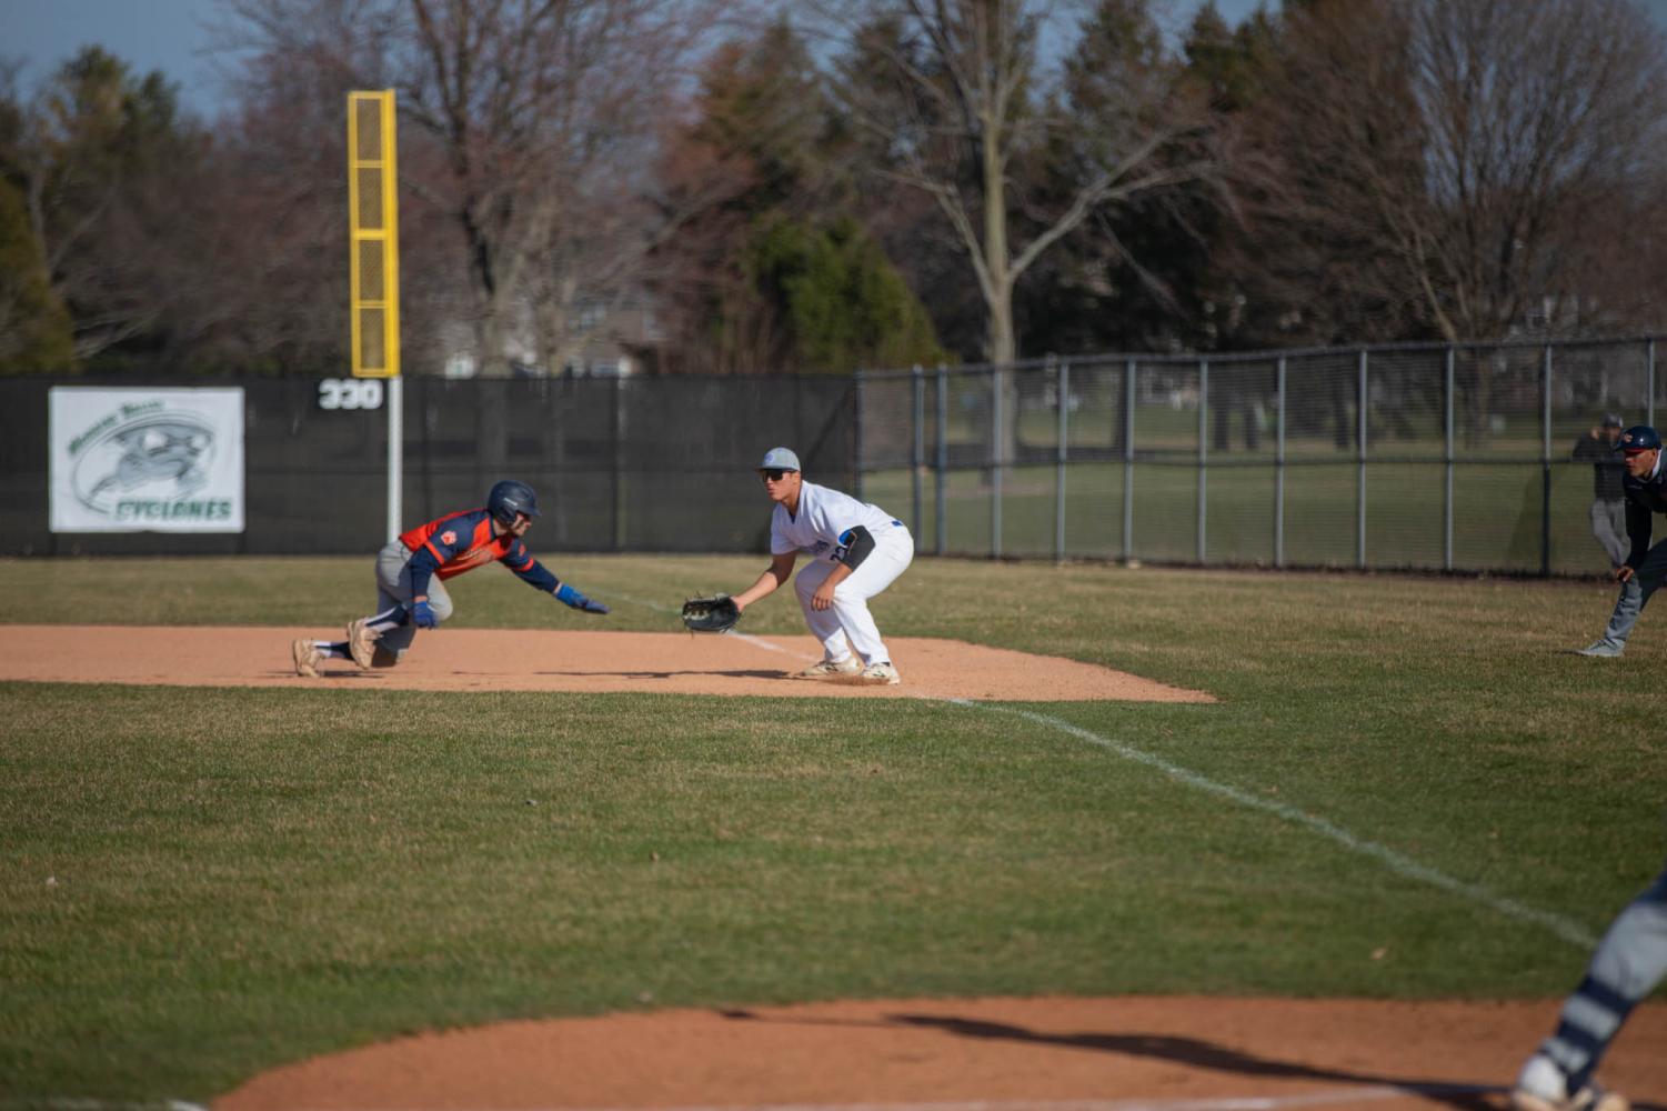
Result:
{"label": "clear blue sky showing above the treetops", "polygon": [[[1229,23],[1262,0],[1215,0]],[[1279,0],[1265,0],[1277,7]],[[1644,0],[1667,27],[1667,0]],[[1200,0],[1167,0],[1180,27]],[[1157,0],[1154,10],[1165,7]],[[162,70],[180,87],[185,107],[212,115],[220,85],[208,62],[203,20],[220,0],[0,0],[0,58],[23,60],[23,87],[70,58],[80,47],[102,45],[138,73]]]}

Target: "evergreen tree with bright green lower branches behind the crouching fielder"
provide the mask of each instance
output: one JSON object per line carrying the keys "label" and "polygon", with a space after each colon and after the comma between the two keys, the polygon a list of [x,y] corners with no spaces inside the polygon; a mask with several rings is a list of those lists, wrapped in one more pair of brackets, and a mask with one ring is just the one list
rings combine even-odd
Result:
{"label": "evergreen tree with bright green lower branches behind the crouching fielder", "polygon": [[849,135],[787,23],[713,57],[682,143],[683,163],[732,180],[662,252],[695,340],[685,347],[703,354],[685,369],[844,374],[944,359],[920,302],[852,219]]}

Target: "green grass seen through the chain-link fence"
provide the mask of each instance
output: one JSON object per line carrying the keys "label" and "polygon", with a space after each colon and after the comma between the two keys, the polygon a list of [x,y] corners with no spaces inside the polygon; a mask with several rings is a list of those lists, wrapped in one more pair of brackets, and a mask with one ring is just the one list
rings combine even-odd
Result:
{"label": "green grass seen through the chain-link fence", "polygon": [[[1540,535],[1544,475],[1539,464],[1467,462],[1454,474],[1452,569],[1470,572],[1605,574],[1609,557],[1592,537],[1592,469],[1552,467],[1550,549]],[[907,470],[870,472],[864,497],[910,520],[924,550],[937,550],[937,482],[922,480],[915,512]],[[1309,460],[1285,469],[1284,566],[1355,567],[1359,472],[1350,460]],[[1439,462],[1372,462],[1365,492],[1365,566],[1445,569],[1445,469]],[[1205,474],[1205,562],[1274,566],[1275,467],[1215,462]],[[984,556],[992,489],[980,470],[954,470],[944,492],[944,550]],[[1012,467],[1002,487],[1002,554],[1054,556],[1055,469]],[[1074,462],[1065,474],[1065,556],[1124,554],[1124,464]],[[1190,460],[1134,465],[1130,554],[1144,561],[1197,562],[1199,472]]]}

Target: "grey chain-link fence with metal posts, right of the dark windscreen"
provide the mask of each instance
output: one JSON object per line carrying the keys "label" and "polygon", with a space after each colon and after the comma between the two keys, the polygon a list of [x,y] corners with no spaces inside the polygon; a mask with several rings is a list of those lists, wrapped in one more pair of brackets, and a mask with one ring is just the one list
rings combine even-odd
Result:
{"label": "grey chain-link fence with metal posts, right of the dark windscreen", "polygon": [[859,375],[859,490],[925,552],[1592,574],[1605,412],[1657,340],[1084,357]]}

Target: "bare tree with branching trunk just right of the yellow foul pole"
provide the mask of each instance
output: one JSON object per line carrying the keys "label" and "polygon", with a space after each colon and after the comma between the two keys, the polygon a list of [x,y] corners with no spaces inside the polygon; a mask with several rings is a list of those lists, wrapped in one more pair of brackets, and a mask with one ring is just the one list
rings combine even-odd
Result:
{"label": "bare tree with branching trunk just right of the yellow foul pole", "polygon": [[[625,262],[643,254],[617,200],[632,192],[655,115],[712,10],[673,0],[408,3],[408,113],[447,153],[450,178],[433,195],[467,244],[480,350],[500,365],[505,330],[523,310],[558,369],[582,340],[578,302],[617,302]],[[605,280],[587,290],[587,275]]]}

